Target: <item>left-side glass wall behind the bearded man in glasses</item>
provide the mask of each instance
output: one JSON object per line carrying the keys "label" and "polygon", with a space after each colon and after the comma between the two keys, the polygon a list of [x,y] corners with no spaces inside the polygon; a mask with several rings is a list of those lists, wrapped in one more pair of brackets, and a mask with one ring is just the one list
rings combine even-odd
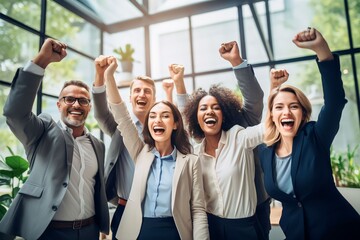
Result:
{"label": "left-side glass wall behind the bearded man in glasses", "polygon": [[[101,30],[54,1],[45,1],[47,8],[44,8],[46,12],[42,14],[42,2],[0,0],[0,111],[3,112],[17,68],[33,59],[42,39],[49,36],[68,45],[68,56],[62,62],[47,67],[42,88],[39,90],[42,95],[36,98],[33,112],[47,112],[54,120],[59,120],[56,102],[64,82],[77,79],[92,85],[93,59],[101,50]],[[46,19],[41,19],[41,16],[46,16]],[[46,29],[41,29],[41,21],[45,22]],[[41,102],[40,108],[37,108],[38,101]],[[100,137],[93,113],[89,116],[87,126]],[[0,116],[0,139],[0,156],[10,154],[7,147],[16,154],[24,155],[23,146],[6,125],[3,114]]]}

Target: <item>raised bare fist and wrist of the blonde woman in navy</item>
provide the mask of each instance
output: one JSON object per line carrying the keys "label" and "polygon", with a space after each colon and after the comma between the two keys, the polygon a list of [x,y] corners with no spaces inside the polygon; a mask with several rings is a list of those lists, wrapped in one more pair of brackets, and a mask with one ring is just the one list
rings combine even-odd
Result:
{"label": "raised bare fist and wrist of the blonde woman in navy", "polygon": [[315,28],[308,27],[306,30],[299,32],[292,41],[299,48],[313,50],[320,62],[333,59],[326,40]]}

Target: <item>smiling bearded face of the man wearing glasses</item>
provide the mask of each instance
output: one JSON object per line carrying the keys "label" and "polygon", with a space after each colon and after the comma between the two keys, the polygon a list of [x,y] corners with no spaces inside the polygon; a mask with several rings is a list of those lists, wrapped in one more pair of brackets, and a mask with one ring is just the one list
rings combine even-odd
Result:
{"label": "smiling bearded face of the man wearing glasses", "polygon": [[88,106],[81,106],[78,101],[72,105],[67,105],[62,97],[86,98],[90,99],[90,93],[83,87],[76,85],[69,85],[65,87],[59,96],[59,101],[56,103],[61,114],[61,120],[70,128],[84,127],[85,120],[91,110],[91,104]]}

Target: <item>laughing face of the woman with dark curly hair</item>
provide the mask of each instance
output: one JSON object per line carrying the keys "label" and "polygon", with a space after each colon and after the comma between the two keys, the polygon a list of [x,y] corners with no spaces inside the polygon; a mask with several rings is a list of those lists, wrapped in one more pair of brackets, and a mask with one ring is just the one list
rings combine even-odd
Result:
{"label": "laughing face of the woman with dark curly hair", "polygon": [[220,136],[223,114],[217,99],[207,95],[198,105],[197,120],[206,136]]}

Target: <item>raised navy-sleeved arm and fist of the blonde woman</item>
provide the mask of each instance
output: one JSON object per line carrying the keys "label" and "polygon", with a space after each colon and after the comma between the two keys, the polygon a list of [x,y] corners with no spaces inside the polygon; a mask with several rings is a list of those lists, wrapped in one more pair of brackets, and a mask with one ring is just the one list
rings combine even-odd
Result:
{"label": "raised navy-sleeved arm and fist of the blonde woman", "polygon": [[314,28],[295,35],[293,42],[300,48],[313,50],[317,55],[324,91],[324,106],[315,124],[318,139],[325,148],[329,148],[339,129],[339,123],[344,106],[347,102],[341,79],[340,62],[333,55],[320,32]]}

